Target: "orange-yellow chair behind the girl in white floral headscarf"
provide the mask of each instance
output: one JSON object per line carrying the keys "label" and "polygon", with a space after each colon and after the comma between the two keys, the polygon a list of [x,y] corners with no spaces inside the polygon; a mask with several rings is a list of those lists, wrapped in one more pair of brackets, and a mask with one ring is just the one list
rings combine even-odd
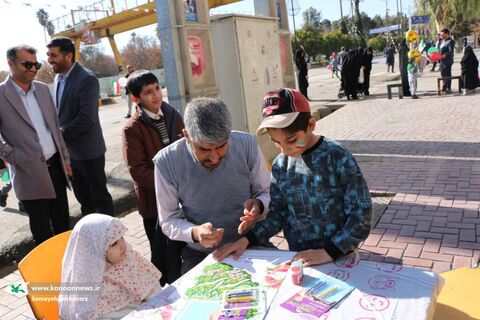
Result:
{"label": "orange-yellow chair behind the girl in white floral headscarf", "polygon": [[[62,259],[72,231],[58,234],[33,249],[18,264],[18,270],[27,283],[58,285],[62,281]],[[37,319],[60,319],[58,293],[28,293],[27,300]],[[47,299],[50,299],[48,301]]]}

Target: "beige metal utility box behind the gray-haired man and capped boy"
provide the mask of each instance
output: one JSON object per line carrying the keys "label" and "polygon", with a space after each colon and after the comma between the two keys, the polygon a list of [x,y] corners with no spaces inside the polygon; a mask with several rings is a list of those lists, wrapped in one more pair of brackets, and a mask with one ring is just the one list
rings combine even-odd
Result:
{"label": "beige metal utility box behind the gray-haired man and capped boy", "polygon": [[[255,134],[265,93],[283,86],[277,20],[236,14],[211,17],[220,97],[230,108],[235,130]],[[268,135],[258,141],[267,160],[278,154]]]}

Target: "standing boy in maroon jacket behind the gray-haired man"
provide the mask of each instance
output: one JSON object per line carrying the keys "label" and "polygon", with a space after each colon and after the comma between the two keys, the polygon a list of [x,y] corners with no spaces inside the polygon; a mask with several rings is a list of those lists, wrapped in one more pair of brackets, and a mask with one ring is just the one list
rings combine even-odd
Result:
{"label": "standing boy in maroon jacket behind the gray-haired man", "polygon": [[[150,242],[152,261],[161,269],[162,279],[166,281],[166,267],[158,265],[166,263],[164,248],[167,238],[160,228],[155,231],[158,213],[152,159],[158,151],[183,137],[183,119],[173,107],[162,101],[162,89],[153,73],[147,70],[132,73],[128,78],[127,89],[136,104],[137,112],[123,128],[123,158],[134,182],[138,212],[143,218],[145,233]],[[156,261],[156,257],[159,261]]]}

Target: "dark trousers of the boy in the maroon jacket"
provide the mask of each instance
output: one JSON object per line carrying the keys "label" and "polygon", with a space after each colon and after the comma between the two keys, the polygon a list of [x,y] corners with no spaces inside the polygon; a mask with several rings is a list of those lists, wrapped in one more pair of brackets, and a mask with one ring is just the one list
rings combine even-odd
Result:
{"label": "dark trousers of the boy in the maroon jacket", "polygon": [[156,224],[153,239],[152,263],[162,273],[160,284],[173,283],[182,275],[181,252],[186,243],[170,240],[163,234],[160,225]]}

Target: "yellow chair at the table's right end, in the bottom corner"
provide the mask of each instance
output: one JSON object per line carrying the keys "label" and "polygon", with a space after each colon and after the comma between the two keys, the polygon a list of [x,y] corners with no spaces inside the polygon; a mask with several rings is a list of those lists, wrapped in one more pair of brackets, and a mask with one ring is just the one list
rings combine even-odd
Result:
{"label": "yellow chair at the table's right end, in the bottom corner", "polygon": [[433,320],[480,319],[480,269],[460,268],[440,275],[445,285],[438,296]]}

